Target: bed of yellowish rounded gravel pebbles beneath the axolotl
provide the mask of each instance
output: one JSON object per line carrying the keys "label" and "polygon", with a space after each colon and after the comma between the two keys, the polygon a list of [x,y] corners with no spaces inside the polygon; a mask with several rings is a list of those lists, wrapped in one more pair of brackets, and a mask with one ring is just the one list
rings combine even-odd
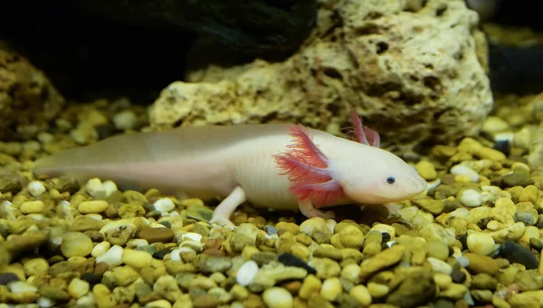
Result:
{"label": "bed of yellowish rounded gravel pebbles beneath the axolotl", "polygon": [[241,207],[233,230],[196,198],[31,179],[43,155],[145,129],[126,100],[71,106],[37,140],[0,143],[0,166],[31,179],[0,178],[0,308],[543,306],[538,98],[508,100],[519,106],[498,103],[484,138],[422,157],[427,193],[391,217]]}

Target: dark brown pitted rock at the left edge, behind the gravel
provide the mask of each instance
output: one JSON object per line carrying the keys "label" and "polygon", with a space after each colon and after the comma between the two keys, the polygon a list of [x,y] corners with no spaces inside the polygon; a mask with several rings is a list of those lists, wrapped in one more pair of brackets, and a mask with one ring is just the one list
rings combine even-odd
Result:
{"label": "dark brown pitted rock at the left edge, behind the gravel", "polygon": [[0,49],[0,140],[27,140],[47,130],[64,99],[23,56]]}

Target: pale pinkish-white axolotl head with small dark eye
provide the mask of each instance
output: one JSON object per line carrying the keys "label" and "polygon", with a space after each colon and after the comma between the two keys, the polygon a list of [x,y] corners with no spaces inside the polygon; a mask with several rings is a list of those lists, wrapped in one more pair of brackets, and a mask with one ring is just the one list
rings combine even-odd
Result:
{"label": "pale pinkish-white axolotl head with small dark eye", "polygon": [[385,149],[351,143],[342,159],[330,159],[333,178],[358,203],[384,204],[421,194],[427,183],[403,159]]}

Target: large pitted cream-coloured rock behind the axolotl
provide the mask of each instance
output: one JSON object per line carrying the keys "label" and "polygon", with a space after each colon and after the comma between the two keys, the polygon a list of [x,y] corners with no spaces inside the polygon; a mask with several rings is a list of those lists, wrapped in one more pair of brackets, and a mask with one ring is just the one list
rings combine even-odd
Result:
{"label": "large pitted cream-coloured rock behind the axolotl", "polygon": [[[484,38],[475,26],[477,14],[463,1],[433,0],[424,7],[330,2],[319,16],[314,36],[284,62],[255,60],[221,70],[208,65],[189,72],[186,82],[171,83],[151,107],[150,122],[266,119],[339,133],[348,106],[364,102],[362,116],[385,147],[447,143],[481,128],[492,107],[476,47]],[[202,53],[195,54],[201,59]]]}

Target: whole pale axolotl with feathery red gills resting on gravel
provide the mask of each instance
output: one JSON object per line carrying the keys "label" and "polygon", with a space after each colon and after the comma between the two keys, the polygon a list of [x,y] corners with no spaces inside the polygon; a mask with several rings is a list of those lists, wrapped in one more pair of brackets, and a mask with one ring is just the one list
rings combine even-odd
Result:
{"label": "whole pale axolotl with feathery red gills resting on gravel", "polygon": [[427,184],[395,154],[380,149],[376,130],[351,112],[350,139],[300,124],[181,127],[136,132],[37,159],[38,178],[113,180],[121,189],[219,197],[211,222],[233,226],[236,207],[297,210],[333,217],[320,208],[410,199]]}

